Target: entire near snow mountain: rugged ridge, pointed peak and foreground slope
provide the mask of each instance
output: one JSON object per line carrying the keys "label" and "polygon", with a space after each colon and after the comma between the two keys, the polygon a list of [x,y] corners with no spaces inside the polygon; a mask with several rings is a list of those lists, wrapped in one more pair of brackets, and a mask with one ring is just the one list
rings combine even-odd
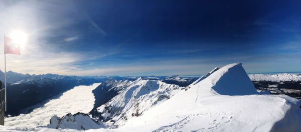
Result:
{"label": "entire near snow mountain: rugged ridge, pointed peak and foreground slope", "polygon": [[[115,87],[120,89],[118,94],[97,108],[101,113],[100,120],[106,121],[104,123],[111,126],[88,131],[301,129],[301,101],[286,95],[258,93],[241,63],[228,64],[187,88],[160,80],[141,78],[135,81],[113,81],[111,84],[126,85]],[[60,122],[59,118],[52,120]],[[89,118],[82,119],[87,122],[74,120],[71,114],[66,120],[63,124],[72,124],[68,125],[70,126],[68,128],[72,129],[82,129],[80,126],[86,126],[85,123],[91,122]],[[58,123],[53,124],[58,126],[56,125]],[[46,127],[22,129],[6,126],[2,126],[1,130],[57,131]]]}

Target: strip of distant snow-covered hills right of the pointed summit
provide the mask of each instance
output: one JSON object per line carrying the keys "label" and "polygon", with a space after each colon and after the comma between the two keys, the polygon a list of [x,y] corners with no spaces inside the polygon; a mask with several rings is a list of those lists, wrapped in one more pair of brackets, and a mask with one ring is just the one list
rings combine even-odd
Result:
{"label": "strip of distant snow-covered hills right of the pointed summit", "polygon": [[301,81],[301,74],[249,74],[251,80],[268,80],[268,81]]}

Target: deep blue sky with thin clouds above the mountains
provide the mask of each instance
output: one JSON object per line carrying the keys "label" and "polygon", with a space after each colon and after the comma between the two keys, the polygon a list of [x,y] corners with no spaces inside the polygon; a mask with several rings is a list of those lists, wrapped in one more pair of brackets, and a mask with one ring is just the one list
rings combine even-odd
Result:
{"label": "deep blue sky with thin clouds above the mountains", "polygon": [[299,0],[1,0],[0,29],[28,33],[22,55],[7,55],[8,69],[21,73],[194,75],[233,62],[249,73],[301,71],[300,7]]}

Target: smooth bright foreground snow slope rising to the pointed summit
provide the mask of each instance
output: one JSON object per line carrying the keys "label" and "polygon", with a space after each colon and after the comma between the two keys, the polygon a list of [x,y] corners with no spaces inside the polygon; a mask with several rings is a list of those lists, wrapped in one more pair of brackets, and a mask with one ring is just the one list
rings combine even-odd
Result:
{"label": "smooth bright foreground snow slope rising to the pointed summit", "polygon": [[[249,89],[252,88],[249,81],[241,63],[229,64],[187,90],[181,90],[170,99],[151,106],[141,115],[132,116],[118,128],[87,131],[298,131],[301,129],[300,100],[286,95],[253,94],[255,89]],[[242,94],[243,91],[247,95],[224,95],[229,93],[220,91],[225,92],[226,88],[230,88],[235,94]],[[0,130],[24,129],[0,127]]]}

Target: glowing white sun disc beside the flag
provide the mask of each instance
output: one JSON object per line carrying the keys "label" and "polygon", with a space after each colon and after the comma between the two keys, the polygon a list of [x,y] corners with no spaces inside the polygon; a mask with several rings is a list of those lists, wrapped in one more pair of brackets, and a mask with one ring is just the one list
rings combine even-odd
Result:
{"label": "glowing white sun disc beside the flag", "polygon": [[24,48],[27,41],[27,33],[21,30],[14,30],[10,34],[10,37],[15,43],[19,44],[21,48]]}

